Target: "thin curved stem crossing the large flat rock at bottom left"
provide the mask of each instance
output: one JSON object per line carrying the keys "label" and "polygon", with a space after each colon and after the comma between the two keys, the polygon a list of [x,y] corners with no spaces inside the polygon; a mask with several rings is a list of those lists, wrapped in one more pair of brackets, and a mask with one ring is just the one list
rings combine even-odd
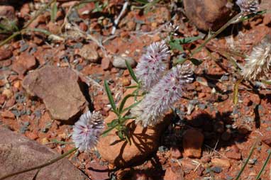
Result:
{"label": "thin curved stem crossing the large flat rock at bottom left", "polygon": [[41,169],[41,168],[43,168],[43,167],[47,167],[47,166],[49,166],[50,164],[53,164],[53,163],[59,161],[60,159],[63,159],[63,158],[66,157],[67,155],[72,154],[72,152],[76,151],[77,149],[78,149],[77,147],[74,147],[74,148],[72,148],[72,150],[70,150],[70,151],[68,151],[68,152],[65,152],[64,154],[62,154],[62,155],[56,157],[55,159],[51,159],[49,162],[46,162],[46,163],[44,163],[44,164],[40,164],[39,166],[36,166],[36,167],[31,167],[31,168],[24,169],[24,170],[21,170],[21,171],[13,172],[13,173],[11,173],[11,174],[7,174],[7,175],[5,175],[5,176],[2,176],[2,177],[0,178],[0,180],[4,180],[4,179],[6,179],[6,178],[8,178],[8,177],[16,176],[16,175],[18,175],[18,174],[22,174],[22,173],[25,173],[25,172],[28,172],[28,171],[33,171],[33,170],[35,170],[35,169]]}

